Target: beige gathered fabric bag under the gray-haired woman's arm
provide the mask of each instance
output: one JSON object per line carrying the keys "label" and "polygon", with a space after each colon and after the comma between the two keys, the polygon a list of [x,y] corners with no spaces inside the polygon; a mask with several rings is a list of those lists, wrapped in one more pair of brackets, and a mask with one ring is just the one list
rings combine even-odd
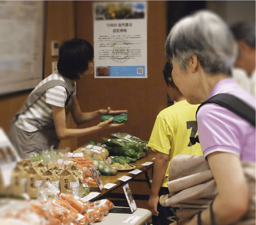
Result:
{"label": "beige gathered fabric bag under the gray-haired woman's arm", "polygon": [[[255,225],[255,163],[241,162],[250,191],[249,212],[236,225]],[[208,208],[218,191],[209,164],[203,156],[179,154],[169,166],[170,194],[159,199],[162,206],[171,207],[178,219],[191,218]]]}

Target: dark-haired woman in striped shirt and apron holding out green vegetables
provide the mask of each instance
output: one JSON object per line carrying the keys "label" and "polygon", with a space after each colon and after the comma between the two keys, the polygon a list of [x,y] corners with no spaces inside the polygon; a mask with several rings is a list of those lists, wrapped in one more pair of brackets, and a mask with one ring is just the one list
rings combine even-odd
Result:
{"label": "dark-haired woman in striped shirt and apron holding out green vegetables", "polygon": [[58,71],[43,79],[34,88],[11,123],[9,138],[21,158],[25,158],[32,151],[50,149],[52,145],[57,149],[63,139],[123,125],[109,124],[113,120],[111,118],[83,129],[69,129],[66,126],[69,112],[78,125],[104,114],[127,112],[113,111],[110,107],[94,112],[81,112],[76,96],[76,82],[82,76],[91,76],[94,73],[94,50],[90,43],[83,39],[66,41],[59,49],[57,68]]}

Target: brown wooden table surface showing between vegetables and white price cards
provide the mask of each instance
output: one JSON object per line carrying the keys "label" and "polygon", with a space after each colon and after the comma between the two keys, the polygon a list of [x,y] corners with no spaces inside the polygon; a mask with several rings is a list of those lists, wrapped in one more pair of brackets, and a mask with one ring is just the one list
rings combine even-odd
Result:
{"label": "brown wooden table surface showing between vegetables and white price cards", "polygon": [[[103,190],[100,191],[100,194],[94,198],[92,198],[90,201],[95,201],[97,199],[102,199],[104,197],[107,196],[107,194],[109,194],[111,191],[115,190],[116,188],[123,186],[125,184],[127,184],[130,181],[139,181],[139,182],[147,182],[149,187],[151,188],[150,185],[150,181],[149,181],[149,176],[148,176],[148,170],[153,168],[154,163],[152,163],[149,166],[143,166],[141,164],[145,163],[145,162],[153,162],[155,158],[155,154],[148,154],[148,156],[139,159],[137,162],[134,163],[130,163],[131,165],[134,165],[135,168],[134,169],[139,169],[141,170],[141,172],[139,174],[130,174],[129,172],[118,172],[117,175],[115,176],[101,176],[100,179],[103,183],[103,186],[108,184],[108,183],[112,183],[112,184],[116,184],[114,187],[110,188],[110,189],[106,189],[104,188]],[[145,174],[145,180],[142,179],[135,179],[137,176],[139,176],[140,174]],[[118,178],[122,177],[122,176],[129,176],[131,177],[131,179],[127,180],[127,181],[121,181],[121,180],[117,180]],[[90,192],[91,193],[91,192]],[[89,194],[90,194],[89,193]],[[111,193],[112,197],[114,197],[115,193]],[[145,200],[145,199],[142,199]]]}

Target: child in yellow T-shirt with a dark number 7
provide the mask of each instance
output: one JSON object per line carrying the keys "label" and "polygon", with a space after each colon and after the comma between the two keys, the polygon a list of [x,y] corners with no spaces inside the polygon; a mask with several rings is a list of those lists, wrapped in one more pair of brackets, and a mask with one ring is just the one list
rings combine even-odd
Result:
{"label": "child in yellow T-shirt with a dark number 7", "polygon": [[169,194],[167,178],[171,159],[177,154],[202,155],[200,144],[192,146],[189,137],[195,137],[197,123],[195,113],[198,105],[189,104],[173,82],[172,66],[166,63],[163,73],[167,92],[174,105],[162,110],[156,119],[148,146],[156,152],[153,168],[151,194],[148,201],[153,225],[168,225],[167,217],[173,216],[169,207],[161,206],[159,196]]}

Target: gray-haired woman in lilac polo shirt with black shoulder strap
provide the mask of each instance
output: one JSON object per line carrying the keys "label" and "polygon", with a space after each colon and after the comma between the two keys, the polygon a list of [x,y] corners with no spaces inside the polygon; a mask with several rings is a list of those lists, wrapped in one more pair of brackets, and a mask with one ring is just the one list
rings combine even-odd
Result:
{"label": "gray-haired woman in lilac polo shirt with black shoulder strap", "polygon": [[[166,40],[174,83],[190,104],[201,104],[212,96],[228,93],[255,109],[255,98],[231,78],[237,54],[238,46],[227,24],[206,10],[178,21]],[[178,224],[234,224],[249,209],[250,194],[241,161],[256,161],[255,128],[214,103],[204,104],[196,119],[201,148],[218,195],[211,207]]]}

